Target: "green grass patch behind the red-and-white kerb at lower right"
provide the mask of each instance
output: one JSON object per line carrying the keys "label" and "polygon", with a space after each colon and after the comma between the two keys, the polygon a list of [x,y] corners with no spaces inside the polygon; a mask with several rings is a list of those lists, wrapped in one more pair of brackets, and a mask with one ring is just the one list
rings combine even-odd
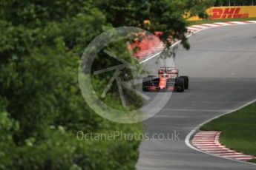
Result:
{"label": "green grass patch behind the red-and-white kerb at lower right", "polygon": [[[237,152],[256,156],[256,103],[211,120],[200,130],[221,131],[220,143]],[[256,159],[251,162],[256,163]]]}

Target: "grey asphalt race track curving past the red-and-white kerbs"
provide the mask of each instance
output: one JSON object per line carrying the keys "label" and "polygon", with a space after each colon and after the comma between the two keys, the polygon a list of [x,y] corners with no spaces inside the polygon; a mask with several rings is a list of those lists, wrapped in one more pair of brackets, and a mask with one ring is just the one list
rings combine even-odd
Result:
{"label": "grey asphalt race track curving past the red-and-white kerbs", "polygon": [[[180,140],[143,141],[137,169],[256,169],[256,165],[197,152],[184,141],[200,123],[256,98],[256,24],[203,30],[189,42],[191,50],[179,47],[175,57],[180,75],[190,78],[189,89],[174,92],[161,112],[144,122],[147,133],[176,131]],[[156,61],[152,58],[147,67],[156,67]]]}

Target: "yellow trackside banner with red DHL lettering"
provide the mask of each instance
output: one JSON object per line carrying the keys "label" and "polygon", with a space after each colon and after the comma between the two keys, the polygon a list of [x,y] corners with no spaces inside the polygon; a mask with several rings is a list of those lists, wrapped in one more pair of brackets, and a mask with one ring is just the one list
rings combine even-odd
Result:
{"label": "yellow trackside banner with red DHL lettering", "polygon": [[[256,17],[256,6],[210,7],[206,10],[210,19],[252,18]],[[202,20],[198,16],[187,18],[188,21]]]}

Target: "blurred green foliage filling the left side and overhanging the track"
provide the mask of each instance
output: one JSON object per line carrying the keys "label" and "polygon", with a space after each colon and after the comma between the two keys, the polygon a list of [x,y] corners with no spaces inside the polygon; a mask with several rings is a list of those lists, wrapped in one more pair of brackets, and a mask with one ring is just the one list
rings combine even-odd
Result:
{"label": "blurred green foliage filling the left side and overhanging the track", "polygon": [[[140,140],[76,139],[77,131],[142,132],[140,123],[111,123],[85,103],[77,80],[82,52],[103,31],[123,25],[147,28],[142,22],[148,18],[148,30],[174,31],[183,39],[186,21],[181,15],[198,14],[207,5],[91,0],[0,4],[0,169],[135,169]],[[110,49],[118,54],[125,46]],[[122,58],[136,64],[127,53]],[[93,68],[111,64],[99,60]],[[96,85],[106,84],[110,75]],[[142,104],[136,95],[129,98],[137,103],[131,107]],[[106,101],[121,107],[114,91]]]}

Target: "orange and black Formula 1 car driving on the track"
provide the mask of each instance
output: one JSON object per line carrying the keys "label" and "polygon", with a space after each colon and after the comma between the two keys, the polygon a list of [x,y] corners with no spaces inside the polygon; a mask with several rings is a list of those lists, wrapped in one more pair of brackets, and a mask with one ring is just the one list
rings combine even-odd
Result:
{"label": "orange and black Formula 1 car driving on the track", "polygon": [[188,89],[188,76],[179,77],[179,69],[160,67],[158,75],[148,75],[143,78],[142,90],[145,91],[174,91],[183,92]]}

